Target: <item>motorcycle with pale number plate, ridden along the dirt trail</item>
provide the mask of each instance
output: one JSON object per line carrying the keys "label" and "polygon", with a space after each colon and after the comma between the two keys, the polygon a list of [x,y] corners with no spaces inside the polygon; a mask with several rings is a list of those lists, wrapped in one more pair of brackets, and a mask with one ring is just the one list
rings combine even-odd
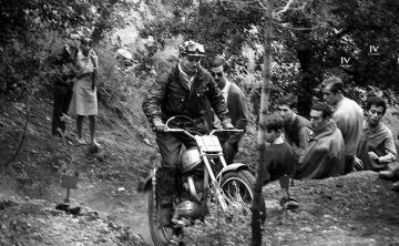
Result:
{"label": "motorcycle with pale number plate, ridden along the dirt trail", "polygon": [[[156,168],[140,186],[149,191],[149,223],[151,237],[156,246],[177,244],[175,236],[195,219],[204,218],[208,203],[216,203],[223,212],[228,209],[249,214],[255,177],[243,163],[227,165],[222,145],[215,135],[219,132],[237,133],[243,130],[213,130],[209,134],[192,134],[183,129],[171,129],[166,121],[165,132],[185,134],[195,140],[197,146],[185,150],[180,162],[180,192],[174,198],[172,226],[162,226],[158,219],[160,205],[156,201]],[[219,164],[217,164],[219,163]],[[222,164],[219,170],[217,165]],[[218,171],[219,170],[219,171]]]}

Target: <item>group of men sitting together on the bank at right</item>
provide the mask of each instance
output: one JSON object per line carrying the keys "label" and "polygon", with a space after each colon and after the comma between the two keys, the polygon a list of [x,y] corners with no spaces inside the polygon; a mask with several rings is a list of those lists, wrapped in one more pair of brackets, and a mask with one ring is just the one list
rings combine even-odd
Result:
{"label": "group of men sitting together on the bank at right", "polygon": [[[277,102],[279,115],[268,115],[260,125],[270,146],[266,163],[258,167],[258,185],[283,174],[318,180],[361,170],[399,180],[399,171],[388,165],[397,150],[392,132],[382,122],[386,101],[369,96],[364,113],[358,103],[344,96],[344,83],[337,76],[323,82],[323,93],[325,102],[311,105],[310,120],[295,113],[296,99],[288,94]],[[392,189],[399,191],[399,182]]]}

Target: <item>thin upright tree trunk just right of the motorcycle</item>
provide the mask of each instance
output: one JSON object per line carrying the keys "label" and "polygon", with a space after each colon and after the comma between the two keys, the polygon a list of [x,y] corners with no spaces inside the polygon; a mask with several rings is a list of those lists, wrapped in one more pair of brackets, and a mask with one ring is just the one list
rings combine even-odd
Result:
{"label": "thin upright tree trunk just right of the motorcycle", "polygon": [[[272,79],[272,40],[273,40],[273,0],[267,0],[266,12],[265,12],[265,53],[264,53],[264,69],[263,69],[263,86],[260,94],[260,110],[259,110],[259,127],[257,133],[257,144],[258,144],[258,166],[265,165],[265,151],[266,151],[266,139],[265,139],[265,129],[262,127],[266,122],[266,115],[268,113],[269,106],[269,84]],[[259,168],[257,168],[259,170]],[[259,177],[257,173],[256,176]],[[257,182],[259,178],[257,178]],[[259,184],[257,184],[259,185]],[[258,197],[260,195],[260,197]],[[254,205],[253,205],[253,238],[252,246],[262,245],[262,232],[260,232],[260,199],[262,191],[254,194]]]}

